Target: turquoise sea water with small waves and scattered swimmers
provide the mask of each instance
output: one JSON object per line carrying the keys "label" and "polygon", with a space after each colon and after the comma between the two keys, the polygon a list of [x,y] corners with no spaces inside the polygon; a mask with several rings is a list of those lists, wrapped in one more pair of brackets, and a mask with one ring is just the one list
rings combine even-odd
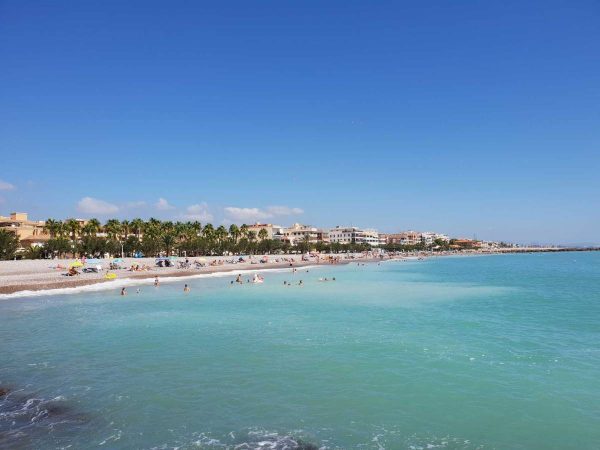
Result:
{"label": "turquoise sea water with small waves and scattered swimmers", "polygon": [[600,447],[600,253],[305,270],[1,299],[0,448]]}

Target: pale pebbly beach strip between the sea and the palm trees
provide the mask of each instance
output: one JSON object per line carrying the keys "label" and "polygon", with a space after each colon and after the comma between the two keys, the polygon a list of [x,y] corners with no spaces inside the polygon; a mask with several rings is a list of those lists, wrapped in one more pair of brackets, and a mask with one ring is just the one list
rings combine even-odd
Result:
{"label": "pale pebbly beach strip between the sea and the palm trees", "polygon": [[[273,256],[269,255],[269,262],[261,263],[264,255],[255,255],[251,260],[245,262],[237,261],[235,257],[202,257],[189,258],[190,268],[158,267],[156,258],[123,258],[118,265],[120,269],[108,270],[110,259],[101,260],[102,270],[98,273],[81,272],[76,276],[66,276],[69,265],[74,259],[38,259],[19,261],[0,261],[0,294],[13,294],[21,291],[42,291],[51,289],[73,288],[98,283],[113,283],[118,285],[124,279],[145,279],[154,277],[188,277],[200,274],[217,274],[236,271],[263,271],[269,269],[283,269],[292,267],[304,267],[312,265],[330,265],[329,255],[321,255],[320,258],[309,258],[303,261],[301,255]],[[337,264],[347,264],[353,261],[373,261],[371,256],[363,254],[331,255],[339,258]],[[178,262],[185,258],[178,258]],[[196,267],[194,262],[202,261],[204,267]],[[213,265],[211,265],[213,264]],[[147,266],[149,270],[132,271],[132,265]],[[85,266],[84,266],[85,267]],[[114,273],[116,278],[106,279],[107,273]]]}

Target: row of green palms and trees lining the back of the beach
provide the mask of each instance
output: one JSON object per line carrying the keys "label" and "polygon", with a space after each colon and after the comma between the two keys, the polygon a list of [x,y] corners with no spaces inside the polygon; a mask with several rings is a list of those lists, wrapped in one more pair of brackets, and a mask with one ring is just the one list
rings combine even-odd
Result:
{"label": "row of green palms and trees lining the back of the beach", "polygon": [[[221,225],[214,227],[200,222],[172,222],[151,218],[149,220],[110,219],[102,224],[90,219],[82,225],[75,219],[65,221],[48,219],[44,225],[50,239],[41,246],[26,248],[17,253],[18,240],[11,232],[0,236],[1,259],[15,255],[26,259],[57,257],[112,256],[204,256],[225,254],[269,254],[308,252],[365,251],[367,244],[339,244],[310,242],[308,236],[291,245],[280,239],[269,238],[261,229],[258,233],[248,225]],[[1,232],[2,230],[0,230]]]}

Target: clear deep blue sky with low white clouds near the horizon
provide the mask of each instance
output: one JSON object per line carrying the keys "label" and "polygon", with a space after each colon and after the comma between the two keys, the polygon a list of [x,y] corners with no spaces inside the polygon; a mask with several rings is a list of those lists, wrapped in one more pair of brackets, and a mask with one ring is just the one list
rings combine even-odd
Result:
{"label": "clear deep blue sky with low white clouds near the horizon", "polygon": [[600,243],[600,4],[0,1],[0,214]]}

